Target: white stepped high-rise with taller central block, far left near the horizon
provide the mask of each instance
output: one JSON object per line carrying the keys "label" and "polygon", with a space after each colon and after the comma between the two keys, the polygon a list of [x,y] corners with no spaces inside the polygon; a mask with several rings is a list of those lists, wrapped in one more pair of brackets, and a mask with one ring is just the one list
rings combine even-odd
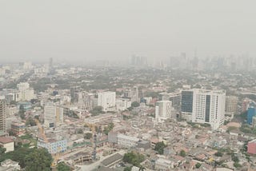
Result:
{"label": "white stepped high-rise with taller central block, far left near the horizon", "polygon": [[27,82],[20,82],[17,85],[18,93],[16,94],[16,101],[30,101],[34,98],[34,89],[30,88]]}

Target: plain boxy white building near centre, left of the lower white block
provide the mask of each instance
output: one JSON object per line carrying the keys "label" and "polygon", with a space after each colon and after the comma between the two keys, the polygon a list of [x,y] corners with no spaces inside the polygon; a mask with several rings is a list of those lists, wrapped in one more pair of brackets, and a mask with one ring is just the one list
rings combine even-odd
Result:
{"label": "plain boxy white building near centre, left of the lower white block", "polygon": [[115,110],[115,92],[98,93],[98,105],[102,106],[105,112]]}

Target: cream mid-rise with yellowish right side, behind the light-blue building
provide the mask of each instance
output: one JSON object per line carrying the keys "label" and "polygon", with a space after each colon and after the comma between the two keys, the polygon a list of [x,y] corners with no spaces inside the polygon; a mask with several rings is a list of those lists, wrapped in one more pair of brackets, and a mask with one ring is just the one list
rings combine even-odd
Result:
{"label": "cream mid-rise with yellowish right side, behind the light-blue building", "polygon": [[46,104],[44,107],[44,121],[47,128],[61,125],[63,123],[63,108],[54,103]]}

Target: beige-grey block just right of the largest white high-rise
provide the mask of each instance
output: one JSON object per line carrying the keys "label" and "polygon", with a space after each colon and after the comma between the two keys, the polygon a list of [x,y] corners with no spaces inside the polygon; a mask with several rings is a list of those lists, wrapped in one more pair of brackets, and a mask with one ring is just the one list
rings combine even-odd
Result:
{"label": "beige-grey block just right of the largest white high-rise", "polygon": [[226,96],[225,111],[227,114],[234,114],[238,112],[238,97]]}

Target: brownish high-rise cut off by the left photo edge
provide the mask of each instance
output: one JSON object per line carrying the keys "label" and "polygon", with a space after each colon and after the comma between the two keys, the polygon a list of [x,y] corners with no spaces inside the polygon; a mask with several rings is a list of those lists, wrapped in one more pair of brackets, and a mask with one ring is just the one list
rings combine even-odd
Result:
{"label": "brownish high-rise cut off by the left photo edge", "polygon": [[0,135],[6,133],[6,101],[0,97]]}

